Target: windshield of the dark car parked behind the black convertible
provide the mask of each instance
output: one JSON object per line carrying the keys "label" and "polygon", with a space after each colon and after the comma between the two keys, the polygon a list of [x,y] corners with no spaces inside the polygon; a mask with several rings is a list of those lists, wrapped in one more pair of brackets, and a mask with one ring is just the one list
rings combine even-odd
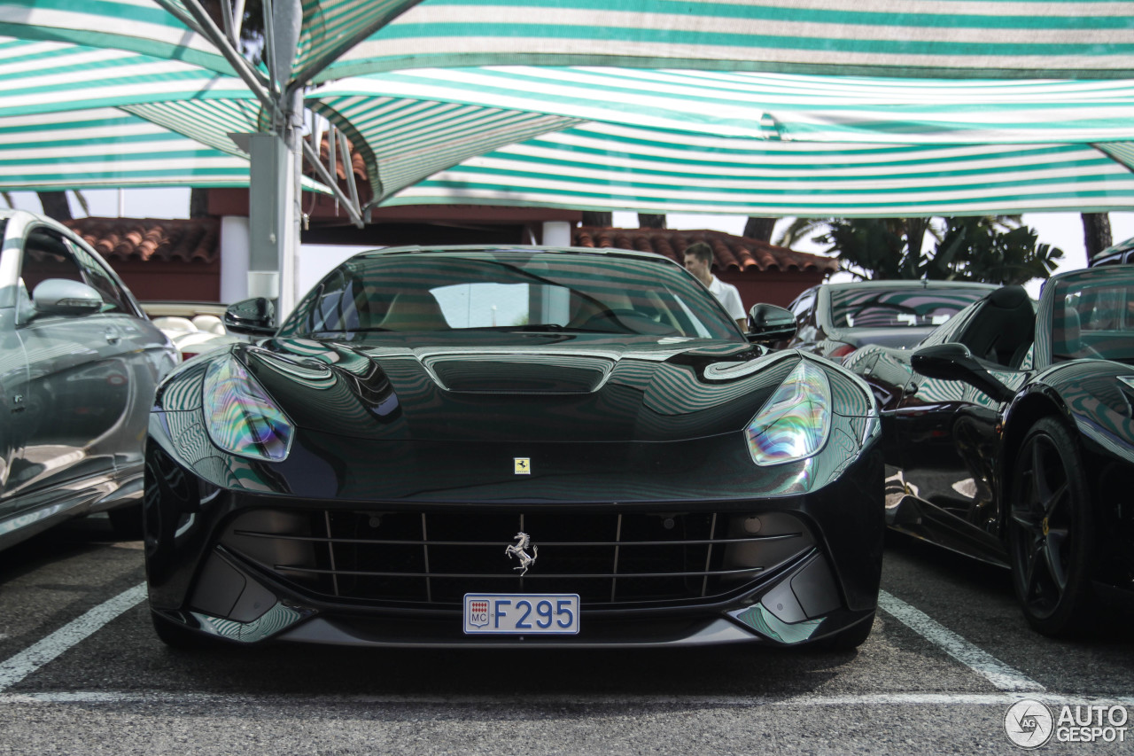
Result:
{"label": "windshield of the dark car parked behind the black convertible", "polygon": [[836,328],[940,326],[990,288],[841,288],[831,291]]}

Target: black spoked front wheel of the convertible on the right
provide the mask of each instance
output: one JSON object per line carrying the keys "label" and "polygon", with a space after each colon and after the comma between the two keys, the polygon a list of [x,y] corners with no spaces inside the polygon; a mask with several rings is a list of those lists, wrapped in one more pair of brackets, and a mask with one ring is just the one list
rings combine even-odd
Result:
{"label": "black spoked front wheel of the convertible on the right", "polygon": [[1058,420],[1040,420],[1013,470],[1008,558],[1024,616],[1044,635],[1073,635],[1091,619],[1090,504],[1078,444]]}

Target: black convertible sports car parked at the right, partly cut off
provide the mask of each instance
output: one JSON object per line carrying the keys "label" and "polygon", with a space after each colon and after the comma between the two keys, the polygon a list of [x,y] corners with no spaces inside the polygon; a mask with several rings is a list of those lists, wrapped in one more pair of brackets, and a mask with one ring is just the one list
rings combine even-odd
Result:
{"label": "black convertible sports car parked at the right, partly cut off", "polygon": [[1132,313],[1134,266],[1081,270],[846,361],[881,406],[887,524],[1010,566],[1048,635],[1134,597]]}

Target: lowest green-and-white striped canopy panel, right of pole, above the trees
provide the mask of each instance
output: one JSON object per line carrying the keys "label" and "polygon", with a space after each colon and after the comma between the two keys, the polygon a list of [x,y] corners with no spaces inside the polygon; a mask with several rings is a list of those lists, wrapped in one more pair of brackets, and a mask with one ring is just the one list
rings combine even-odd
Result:
{"label": "lowest green-and-white striped canopy panel, right of pole, above the trees", "polygon": [[1089,145],[726,141],[591,123],[471,158],[383,204],[425,203],[765,217],[1111,211],[1134,210],[1134,174]]}

